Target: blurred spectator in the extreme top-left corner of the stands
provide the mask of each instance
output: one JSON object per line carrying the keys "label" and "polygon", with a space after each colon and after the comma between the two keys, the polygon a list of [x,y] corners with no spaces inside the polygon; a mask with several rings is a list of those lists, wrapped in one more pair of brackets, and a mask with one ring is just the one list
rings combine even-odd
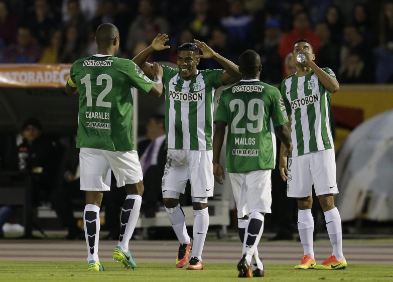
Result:
{"label": "blurred spectator in the extreme top-left corner of the stands", "polygon": [[0,0],[0,39],[5,45],[16,43],[18,26],[18,18],[10,13],[8,2]]}

